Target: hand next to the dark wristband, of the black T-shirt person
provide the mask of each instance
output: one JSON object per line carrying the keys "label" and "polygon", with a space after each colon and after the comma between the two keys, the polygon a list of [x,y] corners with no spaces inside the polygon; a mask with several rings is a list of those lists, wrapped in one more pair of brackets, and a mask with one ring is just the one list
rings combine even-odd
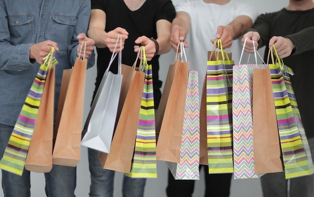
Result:
{"label": "hand next to the dark wristband, of the black T-shirt person", "polygon": [[[154,55],[156,53],[155,43],[153,41],[151,41],[149,38],[147,38],[146,36],[138,37],[135,40],[135,44],[141,44],[142,46],[145,47],[145,55],[146,55],[147,61],[150,61],[154,57]],[[134,52],[138,53],[138,51],[139,51],[139,46],[135,45],[134,46]]]}

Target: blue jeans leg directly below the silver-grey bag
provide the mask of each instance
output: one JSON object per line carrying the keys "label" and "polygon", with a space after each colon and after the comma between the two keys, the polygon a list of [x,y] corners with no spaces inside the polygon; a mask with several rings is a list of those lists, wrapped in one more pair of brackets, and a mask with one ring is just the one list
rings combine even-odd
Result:
{"label": "blue jeans leg directly below the silver-grey bag", "polygon": [[89,172],[91,177],[89,196],[113,197],[114,171],[104,169],[97,154],[97,150],[88,148]]}

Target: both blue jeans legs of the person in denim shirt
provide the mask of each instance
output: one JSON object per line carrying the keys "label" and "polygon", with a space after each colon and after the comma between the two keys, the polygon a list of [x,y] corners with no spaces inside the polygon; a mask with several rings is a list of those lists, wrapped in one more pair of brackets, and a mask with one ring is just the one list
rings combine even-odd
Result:
{"label": "both blue jeans legs of the person in denim shirt", "polygon": [[[0,124],[0,157],[3,157],[13,126]],[[23,175],[2,170],[2,188],[5,197],[30,197],[31,172],[24,169]],[[74,197],[76,187],[76,167],[54,165],[45,173],[46,195],[48,197]]]}

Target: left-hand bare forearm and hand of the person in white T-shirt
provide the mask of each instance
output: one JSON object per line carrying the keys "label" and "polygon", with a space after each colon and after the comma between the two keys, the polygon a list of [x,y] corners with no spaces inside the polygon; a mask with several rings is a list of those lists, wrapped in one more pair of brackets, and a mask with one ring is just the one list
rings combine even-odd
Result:
{"label": "left-hand bare forearm and hand of the person in white T-shirt", "polygon": [[188,47],[186,35],[190,32],[191,19],[186,12],[177,12],[176,18],[172,22],[172,32],[170,38],[171,47],[177,51],[180,41],[184,41],[185,47]]}

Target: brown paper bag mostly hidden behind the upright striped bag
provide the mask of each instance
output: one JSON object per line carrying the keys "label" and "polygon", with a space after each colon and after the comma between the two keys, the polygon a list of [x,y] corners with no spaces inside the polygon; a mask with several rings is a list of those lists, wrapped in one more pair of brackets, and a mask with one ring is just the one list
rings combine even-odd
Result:
{"label": "brown paper bag mostly hidden behind the upright striped bag", "polygon": [[[214,52],[214,53],[213,53]],[[221,53],[217,51],[208,51],[208,61],[216,61],[217,53],[220,60],[222,60]],[[227,53],[229,59],[232,59],[232,53]],[[227,58],[225,58],[227,60]],[[205,68],[204,68],[205,70]],[[206,70],[205,70],[206,71]],[[200,108],[200,165],[208,165],[207,154],[207,107],[206,107],[206,76],[203,83],[203,93],[201,98]]]}

